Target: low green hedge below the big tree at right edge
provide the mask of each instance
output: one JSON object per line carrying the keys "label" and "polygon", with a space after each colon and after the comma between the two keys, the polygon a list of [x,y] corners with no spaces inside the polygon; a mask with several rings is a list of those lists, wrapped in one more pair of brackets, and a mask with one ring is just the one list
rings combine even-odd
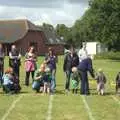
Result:
{"label": "low green hedge below the big tree at right edge", "polygon": [[120,52],[105,52],[95,55],[95,59],[120,60]]}

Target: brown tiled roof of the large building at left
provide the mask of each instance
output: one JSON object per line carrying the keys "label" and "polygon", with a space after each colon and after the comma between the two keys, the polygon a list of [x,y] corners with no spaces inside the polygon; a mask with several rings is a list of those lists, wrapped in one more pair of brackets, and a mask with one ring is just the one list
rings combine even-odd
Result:
{"label": "brown tiled roof of the large building at left", "polygon": [[28,30],[40,30],[28,20],[0,20],[0,42],[13,43],[23,38]]}

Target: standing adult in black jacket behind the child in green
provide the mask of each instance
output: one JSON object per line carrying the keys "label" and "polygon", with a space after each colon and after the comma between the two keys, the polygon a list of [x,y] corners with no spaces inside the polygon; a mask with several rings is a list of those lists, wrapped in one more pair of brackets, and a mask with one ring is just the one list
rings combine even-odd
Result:
{"label": "standing adult in black jacket behind the child in green", "polygon": [[65,84],[66,92],[69,91],[72,67],[77,67],[78,65],[79,65],[79,57],[74,51],[74,48],[71,47],[69,52],[65,55],[64,64],[63,64],[63,71],[66,74],[66,84]]}

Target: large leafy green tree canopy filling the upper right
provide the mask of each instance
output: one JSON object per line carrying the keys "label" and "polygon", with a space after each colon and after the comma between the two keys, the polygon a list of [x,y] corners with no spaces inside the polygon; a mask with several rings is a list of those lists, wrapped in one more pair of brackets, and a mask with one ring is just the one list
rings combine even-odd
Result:
{"label": "large leafy green tree canopy filling the upper right", "polygon": [[99,41],[109,50],[120,50],[120,0],[90,0],[82,18],[71,28],[57,25],[56,31],[67,43],[81,45],[83,41]]}

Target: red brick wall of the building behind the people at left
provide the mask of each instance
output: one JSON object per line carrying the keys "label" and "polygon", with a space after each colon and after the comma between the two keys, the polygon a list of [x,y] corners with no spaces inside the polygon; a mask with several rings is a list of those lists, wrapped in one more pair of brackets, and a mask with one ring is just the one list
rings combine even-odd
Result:
{"label": "red brick wall of the building behind the people at left", "polygon": [[48,51],[48,47],[53,47],[57,54],[63,54],[63,45],[46,45],[45,36],[41,31],[29,31],[23,39],[15,42],[16,46],[21,50],[24,55],[28,50],[31,43],[35,44],[38,55],[44,55]]}

